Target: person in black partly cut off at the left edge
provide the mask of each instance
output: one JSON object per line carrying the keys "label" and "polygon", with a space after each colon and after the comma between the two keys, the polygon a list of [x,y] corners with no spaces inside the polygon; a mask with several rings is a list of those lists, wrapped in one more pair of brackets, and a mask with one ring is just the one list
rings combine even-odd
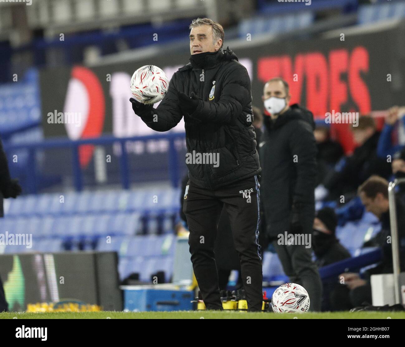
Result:
{"label": "person in black partly cut off at the left edge", "polygon": [[[0,138],[0,217],[4,216],[3,198],[16,198],[21,194],[21,187],[17,179],[11,179],[9,164]],[[4,232],[5,230],[0,230]],[[8,311],[8,304],[4,296],[3,283],[0,278],[0,312]]]}

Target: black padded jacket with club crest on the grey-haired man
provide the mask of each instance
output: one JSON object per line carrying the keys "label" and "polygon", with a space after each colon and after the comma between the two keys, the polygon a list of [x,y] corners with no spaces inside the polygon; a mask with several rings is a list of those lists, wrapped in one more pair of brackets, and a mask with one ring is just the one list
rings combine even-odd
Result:
{"label": "black padded jacket with club crest on the grey-haired man", "polygon": [[[194,92],[199,104],[184,115],[188,153],[219,154],[219,166],[187,164],[196,185],[216,189],[260,172],[256,134],[252,126],[252,94],[246,68],[229,49],[205,59],[205,68],[190,63],[173,75],[169,89],[157,109],[140,115],[156,131],[167,131],[179,123],[183,112],[177,92]],[[153,113],[157,121],[153,121]]]}

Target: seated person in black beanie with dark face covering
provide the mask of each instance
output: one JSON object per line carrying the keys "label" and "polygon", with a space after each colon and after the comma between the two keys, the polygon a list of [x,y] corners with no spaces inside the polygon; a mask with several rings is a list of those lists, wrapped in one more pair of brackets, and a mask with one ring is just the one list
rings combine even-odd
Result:
{"label": "seated person in black beanie with dark face covering", "polygon": [[312,248],[315,264],[326,266],[350,258],[351,255],[336,238],[337,216],[330,207],[318,211],[313,221]]}

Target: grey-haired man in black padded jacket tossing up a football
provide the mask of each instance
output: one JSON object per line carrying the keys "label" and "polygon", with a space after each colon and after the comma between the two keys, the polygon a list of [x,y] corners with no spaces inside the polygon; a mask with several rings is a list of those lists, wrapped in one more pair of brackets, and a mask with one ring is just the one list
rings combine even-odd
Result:
{"label": "grey-haired man in black padded jacket tossing up a football", "polygon": [[[222,310],[214,241],[225,209],[231,224],[248,311],[262,309],[262,256],[259,238],[259,155],[252,126],[252,94],[246,68],[223,49],[224,30],[208,18],[190,25],[190,63],[173,75],[156,109],[133,98],[136,115],[156,131],[184,117],[188,153],[219,162],[187,161],[183,212],[190,230],[194,274],[207,309]],[[156,117],[156,116],[157,117]],[[157,121],[156,121],[157,120]]]}

